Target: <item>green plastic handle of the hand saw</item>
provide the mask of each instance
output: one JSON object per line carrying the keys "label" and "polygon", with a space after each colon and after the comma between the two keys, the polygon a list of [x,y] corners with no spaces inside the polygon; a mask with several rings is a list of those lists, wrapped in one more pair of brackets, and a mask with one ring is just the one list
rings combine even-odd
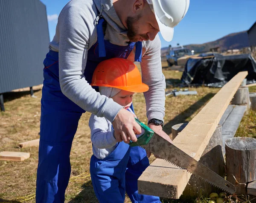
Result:
{"label": "green plastic handle of the hand saw", "polygon": [[142,122],[140,122],[137,118],[135,118],[135,121],[140,125],[141,128],[143,128],[145,133],[137,139],[137,142],[130,141],[129,145],[131,147],[136,147],[136,146],[142,146],[142,145],[148,144],[148,142],[154,135],[154,131],[151,130],[148,126],[146,126]]}

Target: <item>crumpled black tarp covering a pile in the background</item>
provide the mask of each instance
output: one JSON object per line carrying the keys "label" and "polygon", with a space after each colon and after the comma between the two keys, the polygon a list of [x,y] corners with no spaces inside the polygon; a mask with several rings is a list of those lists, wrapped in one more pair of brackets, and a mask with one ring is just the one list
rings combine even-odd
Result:
{"label": "crumpled black tarp covering a pile in the background", "polygon": [[[186,62],[181,82],[222,87],[240,71],[247,70],[247,84],[256,82],[256,61],[250,54],[223,56],[221,54],[200,54],[201,59]],[[212,57],[210,57],[212,56]],[[210,57],[210,58],[207,58]]]}

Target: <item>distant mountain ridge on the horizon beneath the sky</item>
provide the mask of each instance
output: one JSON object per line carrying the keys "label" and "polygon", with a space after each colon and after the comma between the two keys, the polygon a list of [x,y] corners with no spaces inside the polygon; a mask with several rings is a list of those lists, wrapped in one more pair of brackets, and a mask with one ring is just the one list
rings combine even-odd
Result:
{"label": "distant mountain ridge on the horizon beneath the sky", "polygon": [[[228,34],[220,39],[212,42],[207,42],[204,44],[190,44],[184,45],[183,47],[194,50],[195,53],[203,53],[210,51],[210,48],[219,47],[221,51],[226,51],[229,49],[241,49],[249,46],[247,31],[236,32]],[[162,56],[166,55],[168,47],[161,49]]]}

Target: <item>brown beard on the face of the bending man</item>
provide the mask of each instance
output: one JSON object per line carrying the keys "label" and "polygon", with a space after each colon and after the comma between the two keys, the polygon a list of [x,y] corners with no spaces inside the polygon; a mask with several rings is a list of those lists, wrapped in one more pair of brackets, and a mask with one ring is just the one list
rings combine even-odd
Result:
{"label": "brown beard on the face of the bending man", "polygon": [[139,14],[136,17],[130,17],[128,16],[126,19],[126,24],[127,24],[127,37],[130,39],[131,42],[137,42],[141,38],[144,40],[148,40],[149,37],[147,34],[138,34],[139,33],[139,28],[135,28],[135,25],[137,21],[141,18],[141,15]]}

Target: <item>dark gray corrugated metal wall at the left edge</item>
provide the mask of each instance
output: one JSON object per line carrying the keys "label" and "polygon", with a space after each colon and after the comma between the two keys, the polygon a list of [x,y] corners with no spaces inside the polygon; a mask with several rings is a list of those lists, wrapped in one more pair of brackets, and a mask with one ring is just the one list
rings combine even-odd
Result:
{"label": "dark gray corrugated metal wall at the left edge", "polygon": [[42,84],[48,45],[40,0],[0,0],[0,93]]}

